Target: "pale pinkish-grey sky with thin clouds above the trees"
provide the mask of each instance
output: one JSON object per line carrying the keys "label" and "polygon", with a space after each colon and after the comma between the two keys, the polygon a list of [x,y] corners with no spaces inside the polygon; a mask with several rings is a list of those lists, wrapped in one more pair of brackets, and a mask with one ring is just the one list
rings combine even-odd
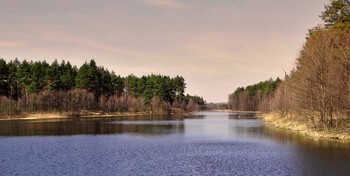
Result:
{"label": "pale pinkish-grey sky with thin clouds above the trees", "polygon": [[227,102],[283,77],[328,0],[1,0],[0,58],[94,59],[121,76],[180,75]]}

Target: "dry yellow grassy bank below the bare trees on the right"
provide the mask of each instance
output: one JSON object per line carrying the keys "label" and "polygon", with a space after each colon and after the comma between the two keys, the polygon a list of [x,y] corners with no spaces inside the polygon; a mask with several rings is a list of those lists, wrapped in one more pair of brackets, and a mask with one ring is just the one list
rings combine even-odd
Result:
{"label": "dry yellow grassy bank below the bare trees on the right", "polygon": [[264,114],[263,119],[266,125],[294,131],[300,135],[309,136],[311,138],[324,138],[350,142],[350,133],[344,130],[312,128],[306,123],[289,118],[281,118],[277,113]]}

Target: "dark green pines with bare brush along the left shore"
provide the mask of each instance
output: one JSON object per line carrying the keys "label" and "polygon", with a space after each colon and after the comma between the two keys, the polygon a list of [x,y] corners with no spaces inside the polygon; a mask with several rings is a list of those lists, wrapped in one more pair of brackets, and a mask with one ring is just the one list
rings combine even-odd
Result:
{"label": "dark green pines with bare brush along the left shore", "polygon": [[171,108],[193,111],[202,97],[184,95],[183,77],[163,75],[121,77],[97,66],[94,60],[80,68],[55,60],[8,63],[0,59],[0,115],[23,112],[170,113]]}

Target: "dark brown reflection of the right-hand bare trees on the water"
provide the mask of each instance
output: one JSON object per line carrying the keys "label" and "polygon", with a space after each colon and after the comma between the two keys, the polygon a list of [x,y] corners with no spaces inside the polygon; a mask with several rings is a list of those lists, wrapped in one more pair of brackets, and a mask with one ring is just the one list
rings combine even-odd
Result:
{"label": "dark brown reflection of the right-hand bare trees on the water", "polygon": [[265,127],[264,133],[266,138],[294,150],[292,153],[299,156],[301,175],[348,175],[349,143],[302,136],[275,127]]}

